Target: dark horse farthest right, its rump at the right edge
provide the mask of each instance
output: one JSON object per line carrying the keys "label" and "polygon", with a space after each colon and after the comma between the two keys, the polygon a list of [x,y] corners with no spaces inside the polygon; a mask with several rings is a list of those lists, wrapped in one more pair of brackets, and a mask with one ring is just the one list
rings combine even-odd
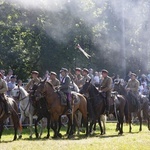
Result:
{"label": "dark horse farthest right, its rump at the right edge", "polygon": [[139,103],[139,107],[133,103],[132,95],[129,95],[123,85],[120,84],[120,82],[116,82],[114,84],[114,90],[117,91],[119,94],[123,95],[125,99],[127,100],[128,104],[128,123],[129,123],[129,132],[131,132],[131,120],[132,116],[131,113],[136,113],[140,122],[140,128],[139,131],[142,131],[142,117],[141,117],[141,111],[143,111],[143,116],[148,122],[148,129],[150,130],[150,119],[148,116],[148,98],[145,96],[140,96],[137,102]]}

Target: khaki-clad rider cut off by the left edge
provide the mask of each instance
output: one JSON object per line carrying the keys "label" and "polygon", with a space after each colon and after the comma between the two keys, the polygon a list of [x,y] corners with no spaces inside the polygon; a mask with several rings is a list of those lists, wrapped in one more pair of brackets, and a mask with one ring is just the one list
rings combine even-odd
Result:
{"label": "khaki-clad rider cut off by the left edge", "polygon": [[4,103],[5,113],[9,115],[10,112],[8,112],[8,104],[4,95],[4,93],[8,91],[8,87],[7,87],[6,81],[2,78],[3,78],[3,75],[0,73],[0,101]]}

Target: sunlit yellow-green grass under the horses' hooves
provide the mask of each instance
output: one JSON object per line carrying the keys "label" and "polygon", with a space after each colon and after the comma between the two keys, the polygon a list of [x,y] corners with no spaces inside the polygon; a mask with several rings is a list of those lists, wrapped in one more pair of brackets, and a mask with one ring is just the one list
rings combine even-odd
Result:
{"label": "sunlit yellow-green grass under the horses' hooves", "polygon": [[[115,131],[115,123],[107,123],[106,135],[100,136],[97,132],[93,136],[85,138],[83,134],[72,139],[44,139],[46,130],[41,139],[29,139],[28,129],[23,130],[23,137],[17,141],[12,141],[13,130],[4,130],[0,150],[149,150],[150,131],[147,126],[143,126],[143,131],[138,132],[139,126],[132,127],[132,133],[128,133],[129,127],[124,125],[124,134],[118,136]],[[61,133],[64,135],[65,130]],[[53,132],[51,132],[51,136]]]}

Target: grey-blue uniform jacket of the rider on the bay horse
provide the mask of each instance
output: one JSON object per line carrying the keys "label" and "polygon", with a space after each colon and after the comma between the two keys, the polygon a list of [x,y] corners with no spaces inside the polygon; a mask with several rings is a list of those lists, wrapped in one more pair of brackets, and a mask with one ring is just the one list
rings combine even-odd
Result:
{"label": "grey-blue uniform jacket of the rider on the bay horse", "polygon": [[70,77],[67,75],[64,78],[62,78],[62,81],[60,83],[60,90],[64,93],[71,93],[71,88],[70,88]]}

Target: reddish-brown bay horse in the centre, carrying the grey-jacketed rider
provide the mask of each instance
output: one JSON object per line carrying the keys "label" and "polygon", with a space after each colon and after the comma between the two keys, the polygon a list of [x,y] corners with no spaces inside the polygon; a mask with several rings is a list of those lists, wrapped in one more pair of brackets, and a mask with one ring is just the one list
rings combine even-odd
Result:
{"label": "reddish-brown bay horse in the centre, carrying the grey-jacketed rider", "polygon": [[[66,114],[67,106],[61,104],[60,95],[56,92],[51,83],[47,82],[46,80],[41,81],[38,84],[37,90],[35,92],[35,96],[37,98],[41,98],[44,96],[47,100],[47,108],[50,113],[51,122],[55,124],[54,127],[54,137],[58,137],[60,134],[57,131],[57,123],[61,115]],[[74,98],[72,98],[72,114],[68,115],[70,120],[71,129],[69,132],[68,137],[73,135],[73,120],[74,115],[77,110],[79,110],[82,115],[83,119],[86,123],[86,136],[88,135],[88,121],[87,121],[87,101],[82,94],[76,93],[76,96],[79,98],[78,103],[74,103]]]}

